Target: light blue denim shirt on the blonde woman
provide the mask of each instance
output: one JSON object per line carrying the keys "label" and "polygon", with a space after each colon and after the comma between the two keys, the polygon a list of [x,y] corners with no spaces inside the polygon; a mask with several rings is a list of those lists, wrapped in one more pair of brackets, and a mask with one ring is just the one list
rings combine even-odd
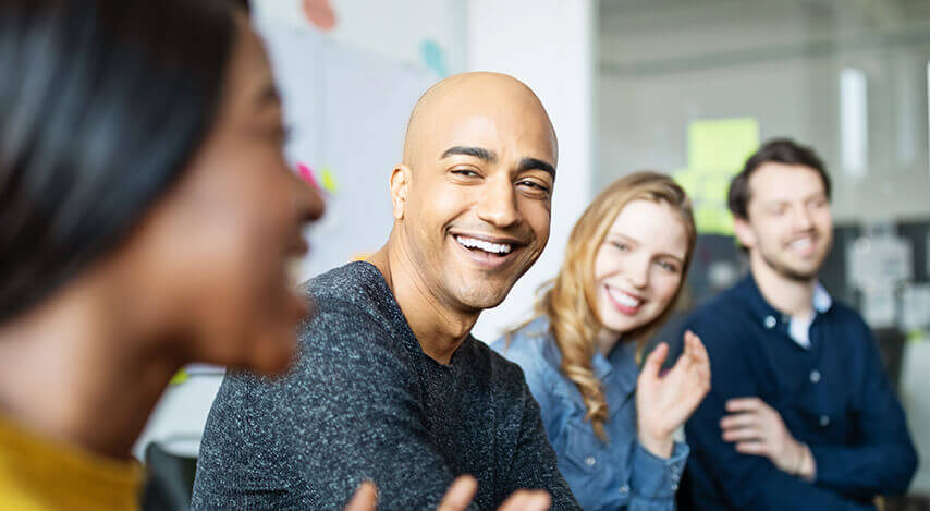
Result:
{"label": "light blue denim shirt on the blonde woman", "polygon": [[507,344],[498,339],[491,348],[523,368],[526,382],[542,412],[549,442],[559,470],[586,510],[672,510],[688,447],[675,443],[663,460],[639,445],[636,435],[636,365],[632,346],[617,344],[592,361],[608,402],[604,424],[609,442],[602,442],[585,421],[585,403],[575,384],[559,365],[562,354],[541,317],[515,332]]}

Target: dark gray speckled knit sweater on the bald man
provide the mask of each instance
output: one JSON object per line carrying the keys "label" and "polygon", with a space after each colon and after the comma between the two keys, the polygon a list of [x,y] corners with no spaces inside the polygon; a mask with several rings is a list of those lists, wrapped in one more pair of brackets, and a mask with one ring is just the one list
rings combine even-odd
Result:
{"label": "dark gray speckled knit sweater on the bald man", "polygon": [[453,478],[473,509],[544,488],[579,509],[519,367],[470,336],[441,365],[420,349],[377,268],[308,283],[316,314],[279,379],[230,374],[200,445],[194,509],[342,509],[374,480],[380,509],[435,509]]}

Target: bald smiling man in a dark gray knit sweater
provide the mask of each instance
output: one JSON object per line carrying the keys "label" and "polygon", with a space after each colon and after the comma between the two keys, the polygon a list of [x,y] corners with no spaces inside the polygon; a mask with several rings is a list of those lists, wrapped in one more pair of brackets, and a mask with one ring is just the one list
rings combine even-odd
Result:
{"label": "bald smiling man in a dark gray knit sweater", "polygon": [[[414,108],[390,174],[394,224],[368,263],[314,278],[291,374],[231,374],[207,422],[197,509],[469,509],[541,488],[578,509],[521,369],[470,336],[549,240],[558,148],[542,105],[501,74],[452,76]],[[544,499],[543,499],[544,507]]]}

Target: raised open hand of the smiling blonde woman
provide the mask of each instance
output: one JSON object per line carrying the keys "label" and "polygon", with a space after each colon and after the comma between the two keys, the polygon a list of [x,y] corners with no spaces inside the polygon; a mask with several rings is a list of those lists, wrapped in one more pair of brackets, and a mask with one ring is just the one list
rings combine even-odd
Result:
{"label": "raised open hand of the smiling blonde woman", "polygon": [[666,375],[659,376],[668,354],[665,343],[652,350],[636,382],[639,443],[660,458],[672,455],[672,434],[710,390],[710,360],[700,338],[686,331],[682,355]]}

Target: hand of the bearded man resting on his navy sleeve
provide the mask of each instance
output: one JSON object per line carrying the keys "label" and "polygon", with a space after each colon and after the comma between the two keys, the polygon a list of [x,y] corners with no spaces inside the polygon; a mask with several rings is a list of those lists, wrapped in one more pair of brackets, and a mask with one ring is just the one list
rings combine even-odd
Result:
{"label": "hand of the bearded man resting on his navy sleeve", "polygon": [[723,439],[736,442],[736,451],[766,457],[782,472],[813,478],[816,466],[810,449],[794,439],[782,416],[759,398],[738,398],[726,402],[726,415],[720,419]]}

